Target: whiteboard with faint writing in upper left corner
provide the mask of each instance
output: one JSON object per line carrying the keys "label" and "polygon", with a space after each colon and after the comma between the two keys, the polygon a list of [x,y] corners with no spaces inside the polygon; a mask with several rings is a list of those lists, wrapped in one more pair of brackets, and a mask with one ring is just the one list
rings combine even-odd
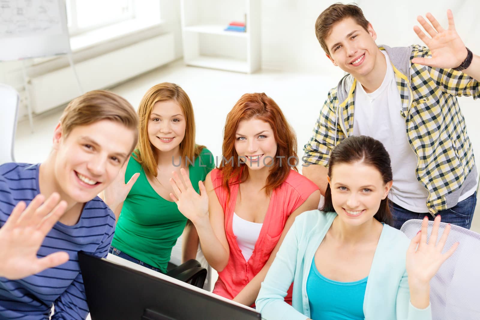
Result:
{"label": "whiteboard with faint writing in upper left corner", "polygon": [[65,0],[0,0],[0,60],[69,52]]}

